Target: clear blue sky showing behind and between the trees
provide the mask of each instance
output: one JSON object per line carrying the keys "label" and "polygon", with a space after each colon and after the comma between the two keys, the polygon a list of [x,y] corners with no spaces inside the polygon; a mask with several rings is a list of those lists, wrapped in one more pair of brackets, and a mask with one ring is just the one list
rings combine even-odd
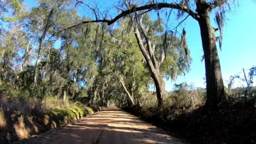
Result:
{"label": "clear blue sky showing behind and between the trees", "polygon": [[[117,0],[110,1],[96,0],[96,3],[100,9],[106,9],[109,6],[112,7],[112,4],[118,5]],[[32,0],[25,0],[25,3],[34,5]],[[83,8],[79,9],[79,13],[81,15],[86,15],[87,17],[94,16],[91,12],[88,12]],[[116,15],[116,9],[112,8],[110,13],[114,13],[114,15]],[[245,68],[246,74],[248,74],[248,69],[253,65],[256,65],[254,60],[256,54],[255,14],[256,3],[252,0],[240,0],[239,7],[236,7],[236,10],[232,8],[232,12],[226,14],[228,20],[224,26],[222,52],[218,49],[222,77],[225,85],[227,85],[226,80],[228,80],[231,75],[240,74],[243,76],[242,68]],[[152,18],[156,18],[156,14],[152,14]],[[174,22],[174,24],[177,23],[174,18],[170,21]],[[211,22],[212,25],[216,27],[213,19]],[[188,74],[185,76],[179,76],[176,82],[172,82],[171,80],[166,82],[167,91],[172,90],[173,84],[179,84],[181,82],[194,83],[196,87],[206,86],[203,80],[205,76],[205,67],[204,62],[201,62],[203,51],[198,22],[189,17],[182,26],[186,28],[187,44],[190,49],[193,62]],[[241,84],[244,85],[244,83],[236,82],[235,86],[239,86]]]}

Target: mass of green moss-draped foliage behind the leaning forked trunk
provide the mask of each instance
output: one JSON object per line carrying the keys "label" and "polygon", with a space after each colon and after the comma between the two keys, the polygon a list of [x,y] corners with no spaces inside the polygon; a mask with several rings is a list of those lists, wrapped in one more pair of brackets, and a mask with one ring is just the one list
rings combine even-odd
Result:
{"label": "mass of green moss-draped foliage behind the leaning forked trunk", "polygon": [[[4,97],[15,93],[28,100],[57,96],[66,103],[129,105],[122,80],[136,104],[147,103],[152,78],[129,18],[120,21],[118,28],[89,23],[64,30],[81,20],[90,20],[81,18],[70,0],[37,0],[37,6],[28,9],[21,1],[8,2],[16,14],[10,17],[10,29],[4,28],[0,39],[0,86],[6,90]],[[142,24],[155,44],[156,59],[166,52],[161,76],[175,80],[188,72],[180,39],[168,34],[168,46],[163,46],[164,21],[160,17],[151,20],[149,14],[144,14]]]}

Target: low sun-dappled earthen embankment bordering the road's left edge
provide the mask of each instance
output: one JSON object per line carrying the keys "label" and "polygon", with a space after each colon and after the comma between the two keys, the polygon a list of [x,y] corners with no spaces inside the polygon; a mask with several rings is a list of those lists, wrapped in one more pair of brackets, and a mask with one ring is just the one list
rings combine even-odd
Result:
{"label": "low sun-dappled earthen embankment bordering the road's left edge", "polygon": [[72,123],[99,110],[102,108],[56,108],[42,112],[34,108],[22,112],[12,106],[1,107],[0,144],[33,137],[35,134]]}

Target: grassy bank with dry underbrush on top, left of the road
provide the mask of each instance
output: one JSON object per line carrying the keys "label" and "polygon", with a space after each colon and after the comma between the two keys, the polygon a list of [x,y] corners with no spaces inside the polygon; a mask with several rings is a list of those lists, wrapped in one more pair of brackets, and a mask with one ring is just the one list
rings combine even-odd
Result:
{"label": "grassy bank with dry underbrush on top, left of the road", "polygon": [[0,99],[0,143],[22,140],[34,134],[72,123],[102,110],[80,102],[63,102],[57,96]]}

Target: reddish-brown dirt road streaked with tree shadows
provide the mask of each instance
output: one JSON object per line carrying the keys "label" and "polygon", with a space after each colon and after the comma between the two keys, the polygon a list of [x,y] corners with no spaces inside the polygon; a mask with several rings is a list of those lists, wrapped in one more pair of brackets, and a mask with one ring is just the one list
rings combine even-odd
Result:
{"label": "reddish-brown dirt road streaked with tree shadows", "polygon": [[111,106],[15,144],[182,144],[163,130]]}

